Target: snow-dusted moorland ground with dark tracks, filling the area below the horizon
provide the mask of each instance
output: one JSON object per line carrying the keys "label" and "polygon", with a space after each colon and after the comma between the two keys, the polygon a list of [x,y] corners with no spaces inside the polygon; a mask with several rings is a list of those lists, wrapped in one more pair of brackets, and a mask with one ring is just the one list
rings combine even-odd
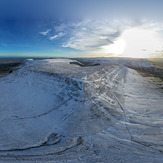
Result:
{"label": "snow-dusted moorland ground with dark tracks, filling the area below the horizon", "polygon": [[0,78],[0,162],[163,162],[162,81],[128,68],[153,65],[78,61],[26,60]]}

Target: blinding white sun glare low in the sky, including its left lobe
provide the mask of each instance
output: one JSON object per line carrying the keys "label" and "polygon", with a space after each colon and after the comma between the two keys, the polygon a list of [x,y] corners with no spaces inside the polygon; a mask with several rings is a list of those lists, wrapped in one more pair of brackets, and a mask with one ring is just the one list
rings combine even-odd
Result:
{"label": "blinding white sun glare low in the sky, including its left lobe", "polygon": [[137,27],[124,31],[113,44],[103,46],[103,51],[119,57],[149,58],[163,49],[162,42],[156,29]]}

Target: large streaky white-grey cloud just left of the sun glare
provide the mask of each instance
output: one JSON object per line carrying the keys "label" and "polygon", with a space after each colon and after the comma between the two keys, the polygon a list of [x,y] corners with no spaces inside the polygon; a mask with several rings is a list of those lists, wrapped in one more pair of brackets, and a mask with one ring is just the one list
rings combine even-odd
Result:
{"label": "large streaky white-grey cloud just left of the sun glare", "polygon": [[120,22],[93,22],[83,21],[72,25],[71,37],[64,43],[63,47],[70,47],[78,50],[94,51],[100,50],[103,46],[111,44],[121,35]]}

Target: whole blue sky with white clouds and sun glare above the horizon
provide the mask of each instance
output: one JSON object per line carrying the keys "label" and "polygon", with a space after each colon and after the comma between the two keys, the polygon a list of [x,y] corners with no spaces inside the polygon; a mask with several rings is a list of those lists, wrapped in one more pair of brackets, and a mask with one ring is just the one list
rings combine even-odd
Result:
{"label": "whole blue sky with white clouds and sun glare above the horizon", "polygon": [[162,0],[1,0],[0,56],[163,57]]}

